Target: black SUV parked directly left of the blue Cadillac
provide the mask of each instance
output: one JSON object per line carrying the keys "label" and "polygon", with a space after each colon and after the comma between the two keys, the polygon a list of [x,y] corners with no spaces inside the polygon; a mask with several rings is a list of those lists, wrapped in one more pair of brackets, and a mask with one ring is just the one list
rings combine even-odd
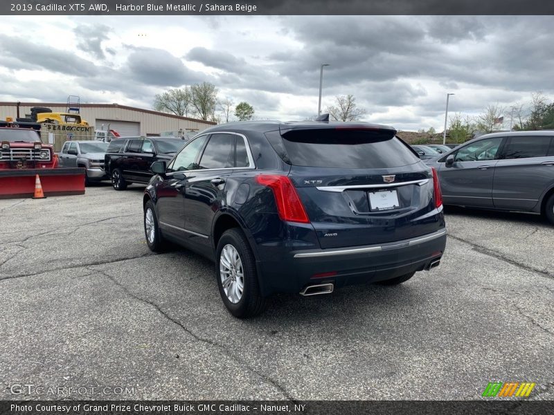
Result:
{"label": "black SUV parked directly left of the blue Cadillac", "polygon": [[104,157],[111,185],[115,190],[125,190],[131,183],[147,184],[154,175],[150,165],[171,160],[184,145],[180,138],[113,138]]}

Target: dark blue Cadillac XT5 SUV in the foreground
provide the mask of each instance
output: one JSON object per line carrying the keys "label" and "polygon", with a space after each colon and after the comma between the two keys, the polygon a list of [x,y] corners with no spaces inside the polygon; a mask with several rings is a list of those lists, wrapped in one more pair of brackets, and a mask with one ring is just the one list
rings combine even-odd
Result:
{"label": "dark blue Cadillac XT5 SUV in the foreground", "polygon": [[272,293],[317,295],[400,284],[438,266],[446,243],[438,178],[364,122],[235,122],[211,127],[145,189],[148,247],[181,244],[215,261],[236,317]]}

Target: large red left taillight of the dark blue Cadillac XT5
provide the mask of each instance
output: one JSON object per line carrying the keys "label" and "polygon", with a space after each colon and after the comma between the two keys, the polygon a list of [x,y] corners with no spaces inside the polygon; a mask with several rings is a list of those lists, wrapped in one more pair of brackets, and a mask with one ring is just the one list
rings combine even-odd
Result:
{"label": "large red left taillight of the dark blue Cadillac XT5", "polygon": [[292,181],[287,176],[260,174],[260,176],[256,176],[256,181],[260,185],[270,187],[273,190],[277,212],[282,221],[310,223],[304,205]]}

